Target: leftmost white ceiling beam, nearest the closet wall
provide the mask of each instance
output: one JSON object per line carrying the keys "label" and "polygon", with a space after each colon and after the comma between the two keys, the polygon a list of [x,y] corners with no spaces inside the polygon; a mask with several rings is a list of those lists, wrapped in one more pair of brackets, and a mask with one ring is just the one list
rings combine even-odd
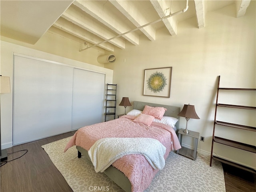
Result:
{"label": "leftmost white ceiling beam, nearest the closet wall", "polygon": [[[91,43],[91,44],[97,44],[98,42],[100,42],[102,39],[99,38],[98,36],[95,36],[94,34],[91,33],[86,33],[86,35],[84,35],[84,31],[82,31],[78,26],[76,25],[70,25],[67,22],[63,21],[64,18],[60,18],[58,19],[53,26],[56,28],[59,28],[69,34],[72,34],[73,36],[76,36],[82,40],[84,40],[85,42]],[[114,52],[114,46],[110,43],[102,43],[99,45],[99,47],[110,51],[110,52]]]}

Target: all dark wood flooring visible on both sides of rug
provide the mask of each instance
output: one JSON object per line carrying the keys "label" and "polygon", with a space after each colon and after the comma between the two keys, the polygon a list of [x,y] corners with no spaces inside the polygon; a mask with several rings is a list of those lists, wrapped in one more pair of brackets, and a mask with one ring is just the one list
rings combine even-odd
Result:
{"label": "all dark wood flooring visible on both sides of rug", "polygon": [[[63,176],[52,164],[41,147],[44,144],[72,136],[74,132],[60,134],[35,142],[8,148],[8,153],[26,151],[8,155],[7,164],[1,163],[1,192],[72,192]],[[223,165],[226,192],[255,192],[256,176],[234,167]]]}

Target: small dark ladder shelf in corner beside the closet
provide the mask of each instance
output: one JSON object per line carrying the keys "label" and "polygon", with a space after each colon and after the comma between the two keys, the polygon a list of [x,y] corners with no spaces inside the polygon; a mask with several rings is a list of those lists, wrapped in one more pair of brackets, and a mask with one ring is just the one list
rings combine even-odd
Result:
{"label": "small dark ladder shelf in corner beside the closet", "polygon": [[116,88],[117,84],[107,84],[105,121],[112,120],[107,116],[116,119]]}

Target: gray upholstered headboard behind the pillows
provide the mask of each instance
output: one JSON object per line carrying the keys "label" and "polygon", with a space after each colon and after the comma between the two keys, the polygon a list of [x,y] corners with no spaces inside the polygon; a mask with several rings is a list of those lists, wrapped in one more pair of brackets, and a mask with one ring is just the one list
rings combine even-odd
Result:
{"label": "gray upholstered headboard behind the pillows", "polygon": [[148,105],[148,106],[151,106],[151,107],[164,107],[164,108],[166,108],[167,111],[164,113],[164,116],[170,116],[170,117],[177,118],[178,122],[176,123],[175,126],[179,130],[180,116],[178,116],[178,114],[180,113],[180,107],[170,106],[170,105],[162,105],[162,104],[156,104],[156,103],[141,102],[141,101],[134,101],[133,102],[133,109],[143,111],[145,105]]}

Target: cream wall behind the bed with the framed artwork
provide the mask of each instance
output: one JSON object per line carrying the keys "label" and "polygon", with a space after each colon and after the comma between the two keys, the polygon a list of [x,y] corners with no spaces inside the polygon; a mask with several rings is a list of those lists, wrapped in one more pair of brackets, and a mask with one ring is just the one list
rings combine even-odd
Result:
{"label": "cream wall behind the bed with the framed artwork", "polygon": [[[200,120],[190,119],[188,129],[205,137],[204,142],[199,142],[198,151],[209,154],[217,77],[221,76],[221,87],[256,88],[255,1],[251,2],[246,15],[241,18],[236,18],[233,10],[234,4],[206,14],[204,28],[198,29],[196,18],[190,18],[178,24],[176,36],[170,36],[162,29],[157,32],[154,42],[140,38],[139,46],[128,45],[125,50],[117,50],[116,62],[105,64],[105,67],[114,70],[113,82],[118,84],[117,104],[122,97],[129,97],[130,102],[138,100],[181,108],[188,103],[195,105]],[[170,98],[143,96],[144,69],[168,66],[172,66]],[[233,104],[256,106],[255,94],[240,99],[234,98],[232,92],[231,96],[224,98],[233,100]],[[126,111],[131,109],[132,106],[128,106]],[[118,106],[117,114],[123,112],[124,108]],[[256,126],[255,111],[251,110],[245,117],[243,113],[241,111],[241,114],[232,117],[228,112],[224,115],[239,124]],[[181,118],[180,127],[185,126],[186,120]],[[230,129],[225,130],[218,134],[234,136],[240,142],[256,145],[255,132],[235,130],[232,133]],[[193,146],[193,141],[184,137],[183,144]],[[217,148],[214,152],[219,156],[227,154],[230,159],[238,157],[237,162],[256,168],[256,155],[250,152],[227,147],[223,152]]]}

